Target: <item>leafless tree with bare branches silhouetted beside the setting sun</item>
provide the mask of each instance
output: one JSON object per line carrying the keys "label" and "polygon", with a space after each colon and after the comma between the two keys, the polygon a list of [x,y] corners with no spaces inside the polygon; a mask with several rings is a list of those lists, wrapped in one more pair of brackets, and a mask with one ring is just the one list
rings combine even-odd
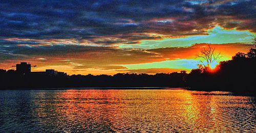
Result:
{"label": "leafless tree with bare branches silhouetted beside the setting sun", "polygon": [[200,58],[200,62],[204,66],[204,69],[207,69],[210,68],[212,63],[221,57],[221,53],[216,53],[215,48],[208,45],[206,48],[201,50],[201,53],[198,54],[197,57]]}

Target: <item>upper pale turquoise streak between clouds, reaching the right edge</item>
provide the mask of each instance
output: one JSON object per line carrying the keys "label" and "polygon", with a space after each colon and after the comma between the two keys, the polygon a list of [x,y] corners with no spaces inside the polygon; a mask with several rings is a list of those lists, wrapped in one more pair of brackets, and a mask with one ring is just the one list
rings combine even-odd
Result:
{"label": "upper pale turquoise streak between clouds, reaching the right edge", "polygon": [[238,31],[237,29],[224,29],[215,26],[207,30],[205,35],[182,36],[179,38],[162,37],[159,40],[141,40],[139,45],[118,45],[121,48],[154,49],[166,47],[186,47],[195,43],[235,43],[252,41],[252,36],[256,35],[247,31]]}

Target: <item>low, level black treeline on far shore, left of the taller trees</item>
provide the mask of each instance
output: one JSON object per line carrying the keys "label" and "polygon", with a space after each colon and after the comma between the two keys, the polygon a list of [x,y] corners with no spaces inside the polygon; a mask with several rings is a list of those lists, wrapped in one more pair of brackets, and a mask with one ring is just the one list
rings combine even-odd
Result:
{"label": "low, level black treeline on far shore, left of the taller trees", "polygon": [[61,87],[182,87],[187,86],[181,73],[122,74],[111,75],[67,75],[27,74],[20,75],[14,70],[1,70],[1,88],[61,88]]}

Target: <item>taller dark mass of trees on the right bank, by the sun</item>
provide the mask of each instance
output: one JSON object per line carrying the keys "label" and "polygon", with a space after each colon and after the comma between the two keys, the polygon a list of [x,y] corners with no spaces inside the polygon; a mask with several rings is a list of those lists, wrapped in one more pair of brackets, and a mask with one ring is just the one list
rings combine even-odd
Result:
{"label": "taller dark mass of trees on the right bank, by the sun", "polygon": [[237,53],[216,70],[200,68],[186,77],[191,90],[256,92],[256,45],[248,53]]}

